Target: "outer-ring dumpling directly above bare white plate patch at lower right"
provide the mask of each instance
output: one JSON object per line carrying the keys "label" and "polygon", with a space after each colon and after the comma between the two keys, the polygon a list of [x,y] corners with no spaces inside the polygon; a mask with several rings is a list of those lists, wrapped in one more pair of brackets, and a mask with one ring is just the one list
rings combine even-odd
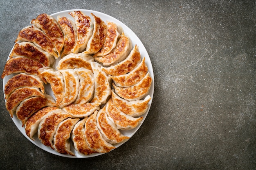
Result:
{"label": "outer-ring dumpling directly above bare white plate patch at lower right", "polygon": [[117,129],[130,130],[138,126],[143,117],[134,118],[121,112],[115,106],[112,98],[110,98],[106,104],[106,112],[108,116],[115,122]]}

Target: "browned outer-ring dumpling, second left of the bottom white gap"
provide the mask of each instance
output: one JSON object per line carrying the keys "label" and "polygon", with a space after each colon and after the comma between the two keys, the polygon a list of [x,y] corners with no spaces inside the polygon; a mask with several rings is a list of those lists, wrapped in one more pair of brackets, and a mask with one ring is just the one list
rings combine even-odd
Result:
{"label": "browned outer-ring dumpling, second left of the bottom white gap", "polygon": [[54,149],[52,142],[58,124],[70,117],[71,115],[63,110],[54,110],[49,112],[38,126],[38,139],[42,142],[42,144],[45,146],[50,146],[52,149]]}

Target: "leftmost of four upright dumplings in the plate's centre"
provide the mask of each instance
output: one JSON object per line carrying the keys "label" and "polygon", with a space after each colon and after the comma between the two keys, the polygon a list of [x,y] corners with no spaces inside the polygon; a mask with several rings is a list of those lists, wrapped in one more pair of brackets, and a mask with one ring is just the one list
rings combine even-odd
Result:
{"label": "leftmost of four upright dumplings in the plate's centre", "polygon": [[56,98],[56,106],[60,105],[64,97],[64,78],[61,72],[50,67],[44,67],[38,70],[40,75],[51,85],[52,92]]}

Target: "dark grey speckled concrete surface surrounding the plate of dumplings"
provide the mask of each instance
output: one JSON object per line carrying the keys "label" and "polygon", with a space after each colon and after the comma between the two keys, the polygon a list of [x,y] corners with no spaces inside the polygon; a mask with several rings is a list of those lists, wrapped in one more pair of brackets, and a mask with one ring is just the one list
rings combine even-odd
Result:
{"label": "dark grey speckled concrete surface surrounding the plate of dumplings", "polygon": [[1,168],[256,169],[254,0],[1,0],[0,9],[1,73],[18,32],[38,14],[91,9],[135,32],[155,76],[141,128],[89,159],[59,157],[29,142],[7,113],[0,86]]}

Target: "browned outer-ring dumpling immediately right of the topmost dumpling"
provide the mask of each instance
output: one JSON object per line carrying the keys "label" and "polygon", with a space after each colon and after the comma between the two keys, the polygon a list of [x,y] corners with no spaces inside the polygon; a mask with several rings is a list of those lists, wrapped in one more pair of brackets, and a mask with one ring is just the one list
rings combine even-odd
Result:
{"label": "browned outer-ring dumpling immediately right of the topmost dumpling", "polygon": [[103,46],[107,37],[107,26],[105,22],[102,21],[100,17],[95,16],[93,13],[91,13],[91,15],[94,18],[94,27],[92,36],[87,43],[86,51],[84,51],[85,54],[95,54],[98,52]]}

